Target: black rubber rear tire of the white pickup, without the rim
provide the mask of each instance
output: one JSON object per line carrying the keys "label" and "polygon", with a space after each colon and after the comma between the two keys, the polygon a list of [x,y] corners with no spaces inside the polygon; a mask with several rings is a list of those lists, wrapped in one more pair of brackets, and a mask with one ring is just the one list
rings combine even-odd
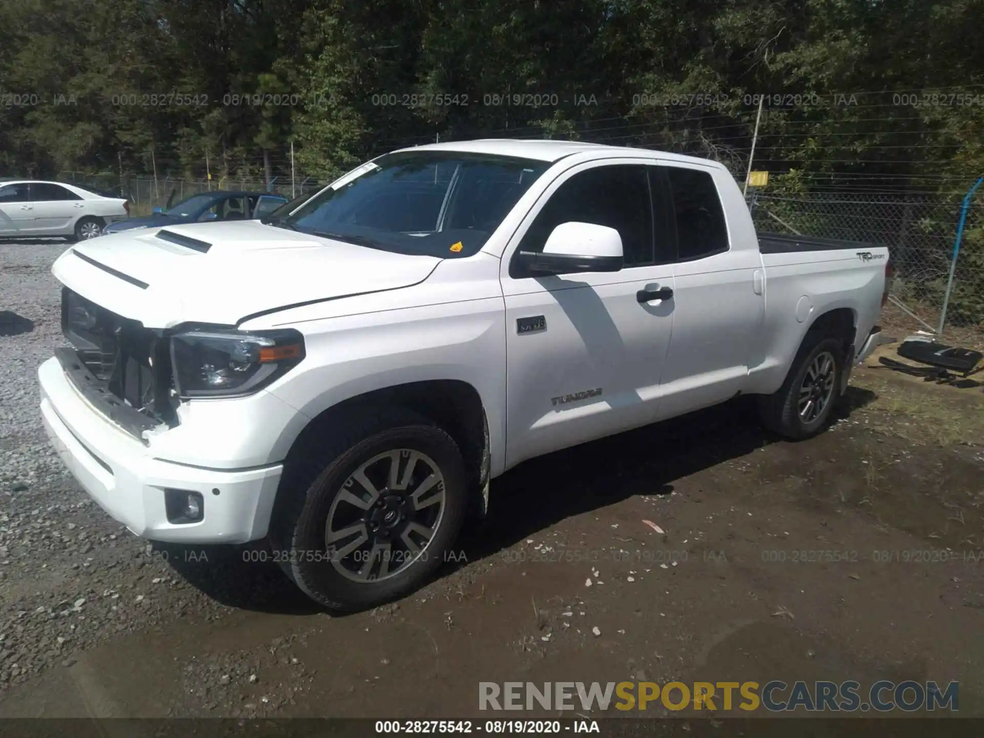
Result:
{"label": "black rubber rear tire of the white pickup, without the rim", "polygon": [[[822,357],[832,358],[832,377],[830,393],[826,396],[823,407],[815,417],[804,417],[800,414],[800,398],[804,389],[804,380]],[[782,387],[774,395],[759,398],[759,417],[762,424],[773,433],[791,440],[811,438],[820,433],[830,419],[830,412],[839,396],[840,379],[844,371],[844,341],[826,334],[808,333],[803,339],[796,357],[793,359],[789,374]],[[827,384],[824,383],[826,392]],[[808,396],[809,397],[809,396]]]}

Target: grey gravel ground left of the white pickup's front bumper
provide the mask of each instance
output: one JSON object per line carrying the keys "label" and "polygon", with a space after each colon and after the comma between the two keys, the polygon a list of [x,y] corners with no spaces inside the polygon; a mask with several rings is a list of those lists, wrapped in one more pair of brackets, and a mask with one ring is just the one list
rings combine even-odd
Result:
{"label": "grey gravel ground left of the white pickup's front bumper", "polygon": [[[48,444],[37,366],[56,346],[58,241],[0,244],[0,689],[80,649],[193,606],[223,610],[167,564],[166,550],[110,520]],[[177,610],[175,610],[177,606]]]}

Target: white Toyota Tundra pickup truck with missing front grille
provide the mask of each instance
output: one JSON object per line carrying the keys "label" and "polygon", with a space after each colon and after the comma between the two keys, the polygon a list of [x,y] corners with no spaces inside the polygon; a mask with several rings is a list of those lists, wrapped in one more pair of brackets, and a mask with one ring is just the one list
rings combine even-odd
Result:
{"label": "white Toyota Tundra pickup truck with missing front grille", "polygon": [[811,436],[879,342],[888,250],[760,237],[705,159],[423,146],[288,210],[66,251],[41,413],[134,533],[266,539],[328,608],[419,585],[532,457],[749,394]]}

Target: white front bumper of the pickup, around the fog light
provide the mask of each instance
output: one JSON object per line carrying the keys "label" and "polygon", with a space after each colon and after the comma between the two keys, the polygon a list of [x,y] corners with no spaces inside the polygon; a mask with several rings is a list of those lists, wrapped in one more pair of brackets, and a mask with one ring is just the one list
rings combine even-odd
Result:
{"label": "white front bumper of the pickup, around the fog light", "polygon": [[[99,413],[57,358],[41,364],[37,374],[52,445],[112,518],[159,541],[244,543],[267,534],[282,464],[212,469],[154,458],[154,445],[145,446]],[[165,489],[201,493],[203,520],[170,523]]]}

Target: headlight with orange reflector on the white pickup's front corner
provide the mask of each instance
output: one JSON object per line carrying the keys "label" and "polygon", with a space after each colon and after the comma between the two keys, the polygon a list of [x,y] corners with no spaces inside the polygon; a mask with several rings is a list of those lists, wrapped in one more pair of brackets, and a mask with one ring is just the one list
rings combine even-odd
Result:
{"label": "headlight with orange reflector on the white pickup's front corner", "polygon": [[303,358],[304,338],[293,329],[203,329],[171,337],[174,384],[183,399],[249,395]]}

